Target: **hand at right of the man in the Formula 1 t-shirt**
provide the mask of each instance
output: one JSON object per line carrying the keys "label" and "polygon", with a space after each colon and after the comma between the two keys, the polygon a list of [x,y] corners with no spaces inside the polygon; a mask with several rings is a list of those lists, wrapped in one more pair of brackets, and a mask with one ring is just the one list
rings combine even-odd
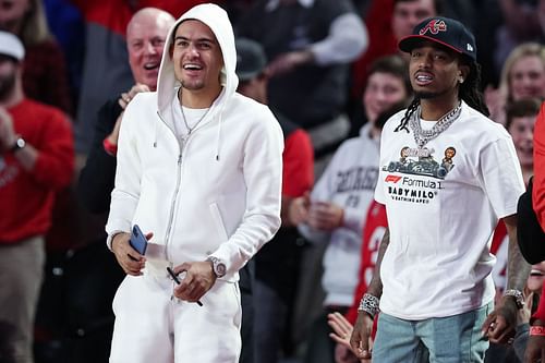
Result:
{"label": "hand at right of the man in the Formula 1 t-shirt", "polygon": [[505,344],[514,337],[519,308],[511,297],[504,297],[482,326],[483,336],[493,343]]}

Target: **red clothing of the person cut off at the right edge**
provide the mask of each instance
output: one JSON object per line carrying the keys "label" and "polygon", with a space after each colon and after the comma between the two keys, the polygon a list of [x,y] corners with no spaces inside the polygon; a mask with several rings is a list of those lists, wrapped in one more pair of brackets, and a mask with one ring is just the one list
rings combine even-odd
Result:
{"label": "red clothing of the person cut off at the right edge", "polygon": [[[535,120],[534,130],[534,180],[532,202],[537,220],[545,231],[545,102]],[[541,241],[543,242],[543,241]],[[540,306],[532,316],[545,323],[545,285],[543,286]]]}

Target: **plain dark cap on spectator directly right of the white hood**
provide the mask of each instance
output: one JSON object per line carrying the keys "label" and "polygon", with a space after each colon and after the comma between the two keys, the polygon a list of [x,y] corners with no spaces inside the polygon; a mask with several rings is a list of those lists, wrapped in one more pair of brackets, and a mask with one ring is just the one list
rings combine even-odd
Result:
{"label": "plain dark cap on spectator directly right of the white hood", "polygon": [[238,38],[237,48],[237,76],[239,81],[250,81],[258,76],[267,66],[267,56],[262,45],[247,38]]}

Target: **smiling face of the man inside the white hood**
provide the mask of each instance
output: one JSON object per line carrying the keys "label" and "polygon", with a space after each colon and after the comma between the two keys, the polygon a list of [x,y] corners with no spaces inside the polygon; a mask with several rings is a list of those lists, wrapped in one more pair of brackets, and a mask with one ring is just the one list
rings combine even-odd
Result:
{"label": "smiling face of the man inside the white hood", "polygon": [[223,57],[207,25],[196,20],[182,22],[175,31],[171,49],[174,73],[183,88],[190,92],[217,92],[221,88]]}

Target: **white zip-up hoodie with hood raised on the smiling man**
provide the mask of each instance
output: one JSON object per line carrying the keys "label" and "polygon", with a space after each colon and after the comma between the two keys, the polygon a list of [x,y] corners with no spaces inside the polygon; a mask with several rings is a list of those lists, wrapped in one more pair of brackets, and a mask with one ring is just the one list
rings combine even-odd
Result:
{"label": "white zip-up hoodie with hood raised on the smiling man", "polygon": [[[169,47],[189,19],[206,24],[220,45],[223,89],[182,145],[173,132],[180,83]],[[213,255],[227,266],[222,279],[235,281],[280,227],[282,132],[266,106],[235,93],[234,35],[221,8],[193,8],[165,47],[157,92],[138,94],[123,116],[108,243],[137,223],[174,266]]]}

